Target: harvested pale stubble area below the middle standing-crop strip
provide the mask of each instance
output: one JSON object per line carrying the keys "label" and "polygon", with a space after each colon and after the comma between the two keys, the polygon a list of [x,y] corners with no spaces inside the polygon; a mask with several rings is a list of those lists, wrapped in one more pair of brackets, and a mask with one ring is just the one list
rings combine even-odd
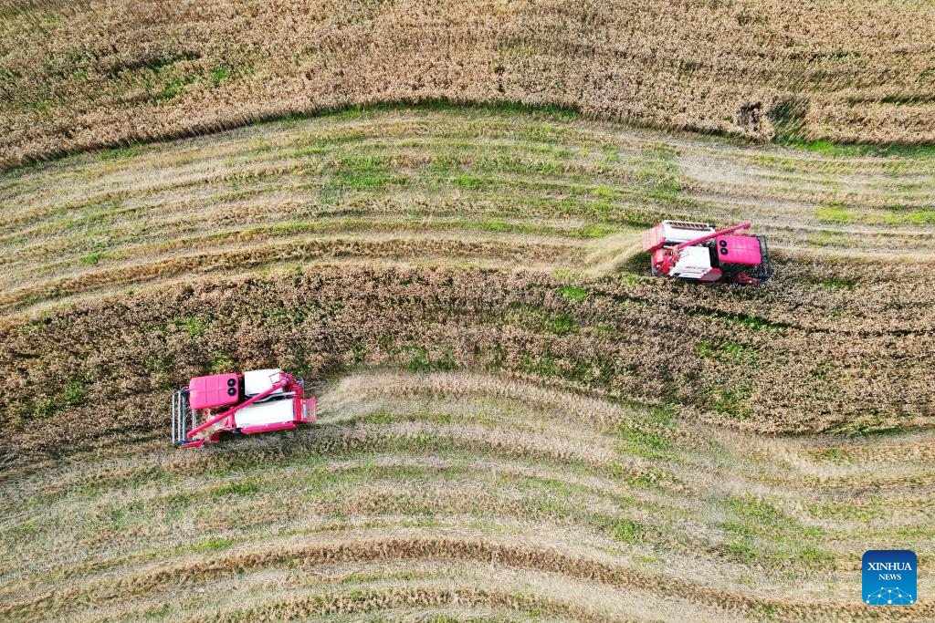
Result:
{"label": "harvested pale stubble area below the middle standing-crop strip", "polygon": [[[334,572],[317,572],[322,566],[372,570],[335,587],[334,599],[348,600],[381,590],[394,568],[405,579],[390,580],[395,588],[417,587],[428,578],[412,570],[441,559],[453,566],[439,577],[458,589],[486,586],[469,573],[480,561],[488,577],[552,573],[565,586],[597,580],[612,600],[618,590],[646,592],[654,612],[673,619],[688,611],[723,619],[715,595],[736,602],[730,612],[739,619],[761,611],[790,620],[862,618],[833,601],[832,587],[853,579],[862,548],[903,543],[874,527],[880,509],[866,483],[814,480],[818,463],[794,439],[732,434],[657,407],[497,376],[384,371],[345,378],[319,395],[320,424],[295,436],[192,453],[167,454],[156,443],[135,446],[133,460],[118,451],[8,471],[3,512],[22,510],[0,530],[8,545],[0,573],[19,570],[0,589],[4,612],[17,620],[145,614],[179,582],[210,595],[220,584],[243,595],[260,591],[263,612],[279,612],[307,588],[328,588],[325,575]],[[912,444],[913,435],[892,443]],[[715,445],[720,458],[711,460]],[[899,467],[911,482],[924,460],[905,456]],[[888,490],[890,502],[907,502],[906,538],[918,538],[928,530],[931,492],[916,490],[913,502]],[[829,504],[844,514],[826,517]],[[477,547],[486,553],[471,553]],[[793,580],[789,565],[813,572]],[[688,579],[698,569],[704,583]],[[275,591],[261,591],[281,575]],[[38,576],[53,579],[54,591],[37,592],[31,578]],[[309,577],[316,579],[302,579]],[[594,596],[584,595],[566,594],[564,602],[587,610]],[[236,613],[247,603],[207,599],[172,612]],[[646,615],[612,600],[602,618]],[[780,602],[786,609],[776,609]],[[910,614],[925,616],[919,608]]]}

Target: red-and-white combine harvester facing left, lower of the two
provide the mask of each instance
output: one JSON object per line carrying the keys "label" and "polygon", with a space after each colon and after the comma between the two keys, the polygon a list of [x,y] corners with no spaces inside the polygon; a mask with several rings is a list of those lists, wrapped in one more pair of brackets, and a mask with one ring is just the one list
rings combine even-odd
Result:
{"label": "red-and-white combine harvester facing left, lower of the two", "polygon": [[[204,421],[198,424],[198,414]],[[216,444],[225,431],[254,434],[315,421],[315,398],[305,383],[278,369],[242,375],[195,376],[172,396],[172,443]]]}

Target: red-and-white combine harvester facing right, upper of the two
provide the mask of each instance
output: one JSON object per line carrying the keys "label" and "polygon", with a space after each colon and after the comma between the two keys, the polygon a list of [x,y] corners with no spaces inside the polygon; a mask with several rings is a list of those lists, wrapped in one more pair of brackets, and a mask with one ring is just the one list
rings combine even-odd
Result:
{"label": "red-and-white combine harvester facing right, upper of the two", "polygon": [[755,286],[772,276],[772,265],[765,235],[736,234],[748,227],[718,231],[711,223],[663,220],[643,232],[643,250],[653,253],[654,276]]}

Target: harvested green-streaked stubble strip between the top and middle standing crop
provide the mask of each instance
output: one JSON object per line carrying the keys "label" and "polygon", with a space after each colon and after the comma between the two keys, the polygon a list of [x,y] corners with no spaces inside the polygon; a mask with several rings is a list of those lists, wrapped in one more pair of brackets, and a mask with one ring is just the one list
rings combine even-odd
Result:
{"label": "harvested green-streaked stubble strip between the top and middle standing crop", "polygon": [[928,162],[477,108],[267,124],[5,174],[0,306],[323,259],[580,269],[602,250],[610,270],[665,217],[751,219],[846,289],[825,256],[928,262]]}

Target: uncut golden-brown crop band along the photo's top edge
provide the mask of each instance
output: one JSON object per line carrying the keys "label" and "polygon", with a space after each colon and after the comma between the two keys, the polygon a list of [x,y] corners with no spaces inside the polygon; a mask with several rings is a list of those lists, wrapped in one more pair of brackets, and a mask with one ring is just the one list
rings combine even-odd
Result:
{"label": "uncut golden-brown crop band along the photo's top edge", "polygon": [[932,23],[928,4],[853,0],[11,7],[0,162],[424,100],[575,106],[756,138],[930,141]]}

